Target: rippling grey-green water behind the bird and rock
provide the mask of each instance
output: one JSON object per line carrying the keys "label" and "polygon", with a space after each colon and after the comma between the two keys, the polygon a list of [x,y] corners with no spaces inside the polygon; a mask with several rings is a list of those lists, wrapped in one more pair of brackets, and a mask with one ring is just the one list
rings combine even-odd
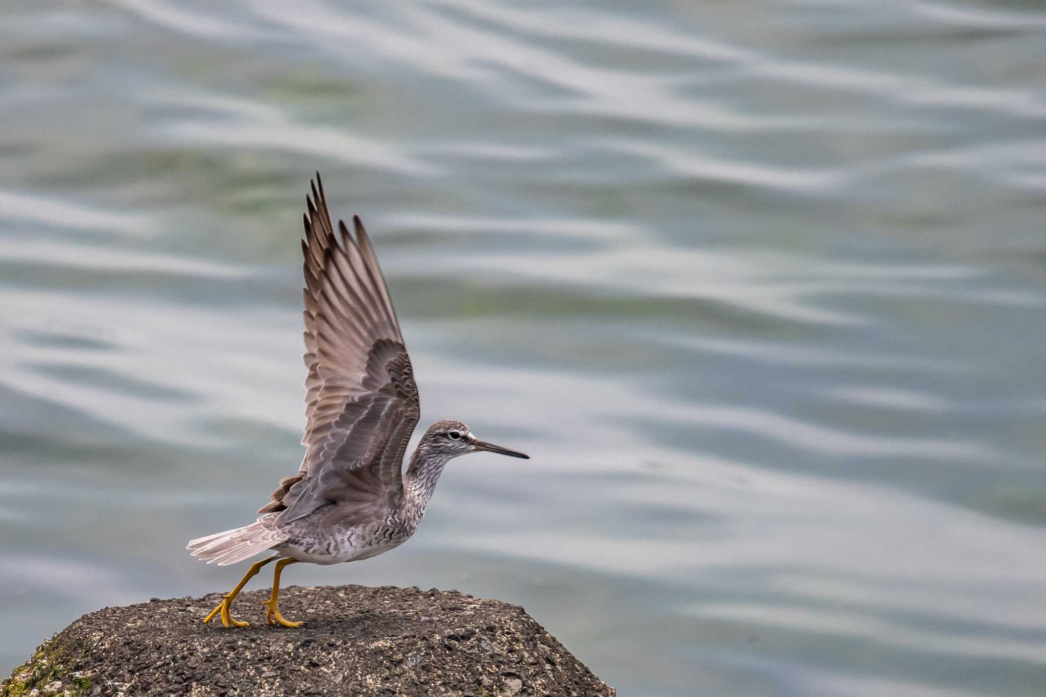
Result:
{"label": "rippling grey-green water behind the bird and rock", "polygon": [[[291,583],[524,605],[622,695],[1041,695],[1033,2],[0,8],[0,673],[230,586],[297,469],[308,179],[475,457]],[[242,608],[249,619],[249,608]],[[256,613],[255,613],[256,614]]]}

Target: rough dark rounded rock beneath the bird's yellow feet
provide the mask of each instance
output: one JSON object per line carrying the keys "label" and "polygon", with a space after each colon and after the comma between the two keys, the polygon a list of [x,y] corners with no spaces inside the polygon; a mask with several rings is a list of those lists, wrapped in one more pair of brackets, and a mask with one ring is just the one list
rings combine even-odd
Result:
{"label": "rough dark rounded rock beneath the bird's yellow feet", "polygon": [[269,626],[268,590],[241,594],[226,629],[203,619],[220,594],[85,614],[0,684],[3,697],[615,695],[522,607],[456,590],[358,585],[280,593],[299,629]]}

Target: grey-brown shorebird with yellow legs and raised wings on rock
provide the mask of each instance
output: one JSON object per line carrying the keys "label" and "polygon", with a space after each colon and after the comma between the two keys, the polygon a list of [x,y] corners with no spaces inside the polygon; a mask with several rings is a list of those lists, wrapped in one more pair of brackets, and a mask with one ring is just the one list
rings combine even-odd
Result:
{"label": "grey-brown shorebird with yellow legs and raised wings on rock", "polygon": [[258,509],[257,519],[189,541],[194,557],[228,565],[266,551],[204,619],[247,627],[232,601],[263,566],[275,562],[266,606],[269,624],[299,627],[279,611],[280,574],[289,564],[368,559],[414,534],[444,467],[471,452],[529,459],[476,438],[461,421],[441,420],[422,436],[403,469],[420,418],[417,384],[378,256],[358,215],[350,233],[331,222],[319,172],[310,182],[304,256],[304,458]]}

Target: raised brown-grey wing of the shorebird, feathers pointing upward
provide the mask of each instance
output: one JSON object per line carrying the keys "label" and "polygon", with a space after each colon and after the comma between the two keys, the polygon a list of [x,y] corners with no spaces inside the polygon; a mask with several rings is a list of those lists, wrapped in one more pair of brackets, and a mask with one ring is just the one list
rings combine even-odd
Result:
{"label": "raised brown-grey wing of the shorebird, feathers pointing upward", "polygon": [[[317,188],[318,184],[318,188]],[[335,234],[316,176],[304,216],[305,458],[258,512],[280,521],[339,504],[331,521],[372,517],[403,493],[420,406],[410,356],[360,218]]]}

